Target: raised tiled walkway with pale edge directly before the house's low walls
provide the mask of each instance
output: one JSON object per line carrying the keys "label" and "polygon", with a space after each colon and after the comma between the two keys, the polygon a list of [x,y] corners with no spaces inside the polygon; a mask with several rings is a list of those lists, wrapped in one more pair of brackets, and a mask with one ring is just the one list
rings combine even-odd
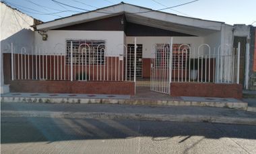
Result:
{"label": "raised tiled walkway with pale edge directly before the house's low walls", "polygon": [[[138,92],[139,93],[139,92]],[[154,94],[153,94],[154,93]],[[140,92],[135,96],[109,94],[47,94],[10,92],[1,95],[1,102],[45,102],[71,104],[136,104],[162,106],[211,106],[247,110],[247,102],[234,98],[172,97],[156,92]]]}

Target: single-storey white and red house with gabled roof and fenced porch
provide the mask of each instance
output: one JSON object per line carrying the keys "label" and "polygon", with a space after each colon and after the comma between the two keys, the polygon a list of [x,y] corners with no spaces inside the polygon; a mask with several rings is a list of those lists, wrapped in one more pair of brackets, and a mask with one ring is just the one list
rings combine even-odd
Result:
{"label": "single-storey white and red house with gabled roof and fenced porch", "polygon": [[251,85],[248,25],[122,2],[32,27],[33,50],[6,56],[11,91],[135,94],[146,80],[172,96],[241,98]]}

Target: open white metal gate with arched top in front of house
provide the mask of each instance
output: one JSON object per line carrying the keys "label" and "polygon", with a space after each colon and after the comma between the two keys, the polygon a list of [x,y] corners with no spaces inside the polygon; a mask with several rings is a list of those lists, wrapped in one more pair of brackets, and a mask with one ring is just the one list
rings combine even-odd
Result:
{"label": "open white metal gate with arched top in front of house", "polygon": [[151,58],[150,89],[170,93],[170,44],[156,44]]}

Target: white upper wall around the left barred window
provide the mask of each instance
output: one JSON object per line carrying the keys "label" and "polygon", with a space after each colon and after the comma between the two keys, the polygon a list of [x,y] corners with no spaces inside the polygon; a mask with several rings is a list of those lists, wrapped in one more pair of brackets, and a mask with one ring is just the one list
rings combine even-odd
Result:
{"label": "white upper wall around the left barred window", "polygon": [[[66,54],[66,40],[105,40],[107,56],[123,54],[123,31],[66,31],[50,30],[46,32],[48,38],[35,33],[35,48],[44,54]],[[38,52],[37,50],[37,52]]]}

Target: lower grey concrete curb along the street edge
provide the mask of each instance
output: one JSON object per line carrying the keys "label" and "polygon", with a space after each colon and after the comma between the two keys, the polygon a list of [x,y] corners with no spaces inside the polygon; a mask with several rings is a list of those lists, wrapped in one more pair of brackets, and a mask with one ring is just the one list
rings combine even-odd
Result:
{"label": "lower grey concrete curb along the street edge", "polygon": [[238,125],[256,125],[256,119],[245,117],[220,117],[191,114],[141,114],[113,112],[49,112],[49,111],[1,111],[1,117],[44,117],[68,119],[132,119],[139,121],[203,122]]}

